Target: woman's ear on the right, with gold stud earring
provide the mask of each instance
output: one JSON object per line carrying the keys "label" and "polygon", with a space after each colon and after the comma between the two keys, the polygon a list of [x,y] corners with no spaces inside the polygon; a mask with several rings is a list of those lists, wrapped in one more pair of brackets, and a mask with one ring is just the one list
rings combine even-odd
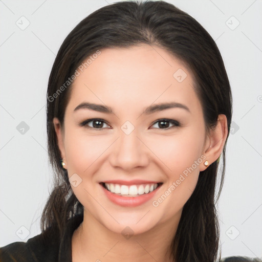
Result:
{"label": "woman's ear on the right, with gold stud earring", "polygon": [[220,157],[227,135],[227,117],[219,115],[216,126],[210,130],[207,137],[203,152],[206,158],[200,167],[200,171],[204,171],[208,167],[204,165],[206,160],[208,161],[208,165],[210,165]]}

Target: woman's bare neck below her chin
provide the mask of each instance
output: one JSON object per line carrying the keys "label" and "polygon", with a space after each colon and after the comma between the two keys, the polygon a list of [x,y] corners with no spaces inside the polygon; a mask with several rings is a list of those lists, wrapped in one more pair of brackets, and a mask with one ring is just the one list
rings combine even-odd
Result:
{"label": "woman's bare neck below her chin", "polygon": [[84,209],[83,222],[72,237],[73,262],[171,262],[170,246],[180,217],[181,213],[147,232],[124,237],[105,228]]}

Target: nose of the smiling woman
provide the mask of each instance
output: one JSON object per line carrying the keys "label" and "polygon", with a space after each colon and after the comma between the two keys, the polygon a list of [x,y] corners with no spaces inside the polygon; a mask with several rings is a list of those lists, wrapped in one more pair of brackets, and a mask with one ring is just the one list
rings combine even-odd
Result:
{"label": "nose of the smiling woman", "polygon": [[120,130],[117,141],[112,145],[110,163],[130,171],[136,167],[145,167],[149,163],[148,148],[137,136],[136,129],[129,135]]}

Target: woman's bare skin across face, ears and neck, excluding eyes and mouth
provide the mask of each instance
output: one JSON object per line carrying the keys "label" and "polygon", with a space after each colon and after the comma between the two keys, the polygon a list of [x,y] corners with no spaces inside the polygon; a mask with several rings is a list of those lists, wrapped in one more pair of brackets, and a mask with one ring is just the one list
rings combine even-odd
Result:
{"label": "woman's bare skin across face, ears and neck, excluding eyes and mouth", "polygon": [[[178,69],[187,74],[182,82],[173,77]],[[192,74],[183,62],[148,45],[101,50],[75,79],[64,125],[57,118],[53,121],[64,168],[69,177],[77,173],[82,179],[72,187],[84,206],[83,223],[72,238],[74,262],[171,261],[168,248],[199,172],[207,168],[204,161],[159,206],[154,207],[152,201],[201,156],[209,164],[216,161],[227,137],[225,115],[220,115],[216,127],[206,134],[202,106],[192,86]],[[74,112],[82,102],[110,106],[114,114],[88,109]],[[190,112],[177,107],[142,114],[147,106],[162,102],[184,104]],[[90,118],[103,119],[102,128],[95,128],[94,122],[79,126]],[[163,118],[181,126],[169,123],[161,128],[156,121]],[[129,135],[121,130],[125,121],[135,127]],[[99,185],[115,179],[163,185],[152,200],[122,207],[108,200]],[[121,234],[126,226],[134,231],[129,239]]]}

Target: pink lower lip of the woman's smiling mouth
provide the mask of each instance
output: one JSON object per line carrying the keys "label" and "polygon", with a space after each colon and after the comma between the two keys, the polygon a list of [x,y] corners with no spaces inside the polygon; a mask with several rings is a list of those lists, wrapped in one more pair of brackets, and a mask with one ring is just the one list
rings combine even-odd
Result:
{"label": "pink lower lip of the woman's smiling mouth", "polygon": [[146,203],[147,201],[152,199],[152,197],[154,197],[158,189],[161,187],[160,185],[154,191],[147,194],[141,194],[139,195],[139,197],[122,197],[121,195],[117,195],[115,193],[106,190],[103,187],[103,185],[100,184],[100,186],[103,188],[106,197],[110,201],[122,207],[136,207]]}

